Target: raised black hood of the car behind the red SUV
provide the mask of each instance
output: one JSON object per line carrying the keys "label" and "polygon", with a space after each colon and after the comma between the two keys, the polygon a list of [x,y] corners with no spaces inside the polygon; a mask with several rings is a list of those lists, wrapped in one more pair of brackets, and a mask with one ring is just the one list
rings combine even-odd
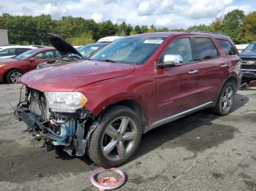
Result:
{"label": "raised black hood of the car behind the red SUV", "polygon": [[78,52],[78,50],[75,49],[75,47],[73,47],[67,41],[62,39],[60,36],[48,33],[45,34],[45,38],[48,39],[48,41],[50,41],[53,47],[55,47],[61,55],[75,54],[79,55],[80,57],[83,57],[83,55],[81,55],[80,52]]}

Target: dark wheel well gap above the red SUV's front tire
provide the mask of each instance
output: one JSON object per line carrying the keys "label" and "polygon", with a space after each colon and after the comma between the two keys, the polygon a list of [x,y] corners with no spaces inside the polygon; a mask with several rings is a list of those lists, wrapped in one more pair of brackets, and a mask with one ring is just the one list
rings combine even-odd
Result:
{"label": "dark wheel well gap above the red SUV's front tire", "polygon": [[131,100],[131,99],[125,99],[125,100],[118,101],[114,104],[111,104],[110,106],[107,106],[99,115],[108,111],[108,109],[110,109],[110,108],[112,108],[113,106],[116,106],[116,105],[129,107],[130,109],[132,109],[133,111],[135,111],[138,114],[138,116],[140,117],[140,121],[141,121],[142,125],[146,124],[146,118],[145,118],[145,114],[144,114],[144,111],[143,111],[142,107],[136,101]]}

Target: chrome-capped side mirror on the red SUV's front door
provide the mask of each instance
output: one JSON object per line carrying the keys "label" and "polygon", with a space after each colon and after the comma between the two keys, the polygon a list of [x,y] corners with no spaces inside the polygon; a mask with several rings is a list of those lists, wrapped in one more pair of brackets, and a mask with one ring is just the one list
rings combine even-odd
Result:
{"label": "chrome-capped side mirror on the red SUV's front door", "polygon": [[165,55],[164,61],[157,64],[157,68],[165,69],[173,66],[181,66],[183,63],[181,55]]}

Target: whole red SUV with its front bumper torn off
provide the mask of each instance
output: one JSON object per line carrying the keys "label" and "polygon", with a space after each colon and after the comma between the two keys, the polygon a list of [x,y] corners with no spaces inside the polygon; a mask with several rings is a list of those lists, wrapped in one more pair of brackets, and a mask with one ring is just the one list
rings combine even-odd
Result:
{"label": "whole red SUV with its front bumper torn off", "polygon": [[240,82],[241,60],[227,36],[140,34],[89,61],[25,74],[15,114],[47,149],[62,145],[108,168],[127,162],[152,128],[210,107],[230,113]]}

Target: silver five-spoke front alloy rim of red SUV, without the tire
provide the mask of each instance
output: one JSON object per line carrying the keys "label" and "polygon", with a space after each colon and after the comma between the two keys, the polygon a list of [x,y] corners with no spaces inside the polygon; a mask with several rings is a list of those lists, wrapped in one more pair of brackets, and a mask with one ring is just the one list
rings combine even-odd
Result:
{"label": "silver five-spoke front alloy rim of red SUV, without the tire", "polygon": [[102,153],[108,160],[121,160],[135,146],[137,127],[130,117],[118,117],[105,129]]}

